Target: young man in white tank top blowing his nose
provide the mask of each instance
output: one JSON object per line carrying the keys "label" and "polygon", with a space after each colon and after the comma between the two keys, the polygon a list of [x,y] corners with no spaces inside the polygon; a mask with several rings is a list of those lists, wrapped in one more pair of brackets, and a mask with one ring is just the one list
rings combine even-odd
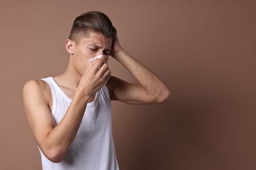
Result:
{"label": "young man in white tank top blowing his nose", "polygon": [[[161,103],[169,88],[120,46],[116,29],[102,12],[78,16],[65,45],[70,60],[62,75],[24,85],[24,110],[43,169],[119,169],[110,101]],[[109,56],[139,83],[111,76]]]}

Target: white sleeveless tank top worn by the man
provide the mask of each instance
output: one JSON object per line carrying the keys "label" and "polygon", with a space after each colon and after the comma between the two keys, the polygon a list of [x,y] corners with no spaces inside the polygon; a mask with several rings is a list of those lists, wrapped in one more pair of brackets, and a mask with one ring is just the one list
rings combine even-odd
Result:
{"label": "white sleeveless tank top worn by the man", "polygon": [[[51,87],[52,114],[58,124],[72,99],[60,89],[53,77],[42,80]],[[60,163],[49,161],[41,150],[40,153],[43,170],[118,170],[112,137],[111,101],[108,88],[104,86],[96,92],[95,101],[87,103],[75,140]]]}

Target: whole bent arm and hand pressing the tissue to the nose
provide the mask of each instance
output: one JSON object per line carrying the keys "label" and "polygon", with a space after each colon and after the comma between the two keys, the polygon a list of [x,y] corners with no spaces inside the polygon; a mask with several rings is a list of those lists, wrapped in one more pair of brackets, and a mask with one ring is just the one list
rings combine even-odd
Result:
{"label": "whole bent arm and hand pressing the tissue to the nose", "polygon": [[[33,137],[43,154],[53,162],[62,161],[75,139],[89,97],[104,86],[110,77],[107,64],[102,65],[103,59],[98,60],[85,71],[72,103],[58,125],[51,114],[49,85],[43,80],[30,80],[24,86],[24,111]],[[100,65],[102,67],[98,71]]]}

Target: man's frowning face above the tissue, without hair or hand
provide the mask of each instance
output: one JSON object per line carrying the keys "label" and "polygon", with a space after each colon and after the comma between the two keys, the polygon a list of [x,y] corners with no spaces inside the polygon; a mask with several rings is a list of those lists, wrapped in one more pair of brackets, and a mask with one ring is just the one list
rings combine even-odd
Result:
{"label": "man's frowning face above the tissue, without hair or hand", "polygon": [[[73,42],[74,43],[74,42]],[[89,66],[89,59],[98,55],[104,55],[106,62],[111,52],[112,39],[106,38],[100,33],[90,32],[86,37],[80,39],[78,44],[73,44],[73,55],[71,56],[79,74]]]}

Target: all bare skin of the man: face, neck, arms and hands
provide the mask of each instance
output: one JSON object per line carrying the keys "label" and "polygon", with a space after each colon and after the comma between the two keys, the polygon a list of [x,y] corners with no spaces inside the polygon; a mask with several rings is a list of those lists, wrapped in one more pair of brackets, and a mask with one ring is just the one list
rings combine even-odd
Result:
{"label": "all bare skin of the man: face, neck, arms and hands", "polygon": [[[60,123],[56,125],[51,114],[53,99],[47,82],[30,80],[23,90],[24,110],[33,137],[43,154],[53,162],[64,158],[75,139],[87,103],[95,99],[95,93],[104,84],[112,100],[130,104],[161,103],[171,94],[158,76],[121,47],[117,37],[110,39],[92,31],[78,43],[68,39],[65,46],[70,61],[66,71],[54,80],[72,103]],[[88,59],[98,55],[105,56],[89,64]],[[130,84],[111,76],[108,55],[129,70],[139,83]]]}

